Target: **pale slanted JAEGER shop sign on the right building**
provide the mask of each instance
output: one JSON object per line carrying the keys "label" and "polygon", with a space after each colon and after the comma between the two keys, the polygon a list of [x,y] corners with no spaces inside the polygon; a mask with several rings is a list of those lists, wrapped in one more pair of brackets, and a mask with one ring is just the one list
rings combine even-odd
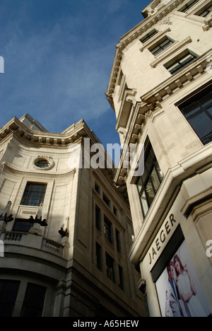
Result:
{"label": "pale slanted JAEGER shop sign on the right building", "polygon": [[155,237],[151,248],[148,250],[149,264],[153,265],[160,257],[160,254],[163,252],[165,245],[172,237],[172,234],[175,232],[179,221],[176,221],[174,214],[170,214],[168,219],[165,219],[163,226],[158,232],[158,236]]}

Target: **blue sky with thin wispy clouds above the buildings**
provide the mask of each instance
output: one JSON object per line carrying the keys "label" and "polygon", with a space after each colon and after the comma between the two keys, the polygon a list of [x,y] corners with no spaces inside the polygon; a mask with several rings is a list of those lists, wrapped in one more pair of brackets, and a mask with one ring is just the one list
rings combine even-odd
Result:
{"label": "blue sky with thin wispy clouds above the buildings", "polygon": [[119,142],[105,92],[120,37],[148,0],[0,0],[0,127],[28,112],[49,132],[86,121]]}

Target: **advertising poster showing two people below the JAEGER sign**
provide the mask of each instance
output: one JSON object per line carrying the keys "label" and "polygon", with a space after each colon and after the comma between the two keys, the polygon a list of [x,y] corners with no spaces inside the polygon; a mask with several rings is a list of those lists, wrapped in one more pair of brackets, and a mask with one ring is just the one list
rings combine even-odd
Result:
{"label": "advertising poster showing two people below the JAEGER sign", "polygon": [[185,241],[155,285],[163,317],[207,317],[211,314]]}

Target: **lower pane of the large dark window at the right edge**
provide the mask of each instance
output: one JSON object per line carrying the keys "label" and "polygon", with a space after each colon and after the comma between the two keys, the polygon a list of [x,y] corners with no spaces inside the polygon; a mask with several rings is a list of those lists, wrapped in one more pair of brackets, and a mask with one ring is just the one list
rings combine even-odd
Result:
{"label": "lower pane of the large dark window at the right edge", "polygon": [[189,123],[200,138],[212,131],[212,121],[204,112],[189,120]]}

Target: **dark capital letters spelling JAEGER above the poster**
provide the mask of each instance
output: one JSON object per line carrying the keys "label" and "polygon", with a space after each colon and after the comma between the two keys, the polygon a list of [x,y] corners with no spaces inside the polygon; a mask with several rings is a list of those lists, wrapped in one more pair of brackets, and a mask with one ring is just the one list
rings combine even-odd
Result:
{"label": "dark capital letters spelling JAEGER above the poster", "polygon": [[174,214],[170,214],[169,221],[165,223],[164,228],[160,231],[160,234],[156,238],[153,247],[151,248],[151,252],[149,253],[150,265],[152,264],[155,257],[158,255],[162,244],[164,244],[167,238],[170,236],[170,233],[172,232],[172,228],[175,226],[175,223],[176,220]]}

